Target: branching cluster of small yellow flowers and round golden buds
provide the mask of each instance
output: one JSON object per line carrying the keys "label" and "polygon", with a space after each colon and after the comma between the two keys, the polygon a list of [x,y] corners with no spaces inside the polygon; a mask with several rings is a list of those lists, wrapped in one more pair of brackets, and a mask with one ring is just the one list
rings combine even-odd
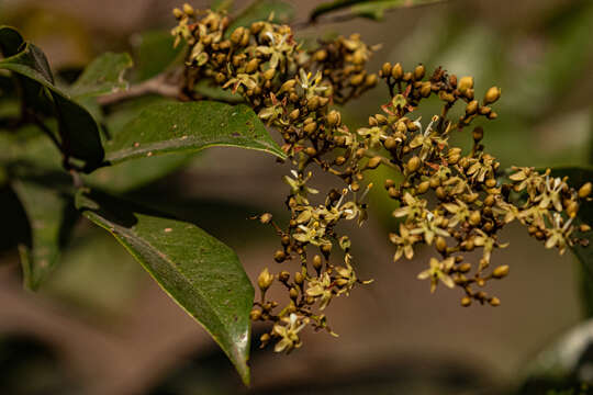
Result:
{"label": "branching cluster of small yellow flowers and round golden buds", "polygon": [[[348,295],[358,279],[350,252],[350,239],[336,229],[338,223],[367,217],[368,171],[388,166],[402,180],[385,180],[388,195],[398,202],[393,212],[396,229],[389,235],[395,245],[395,260],[412,259],[419,245],[434,246],[438,258],[418,279],[429,279],[432,290],[439,282],[460,286],[467,306],[473,300],[491,305],[500,301],[482,287],[491,279],[502,279],[507,266],[489,271],[492,252],[505,247],[499,232],[514,219],[529,233],[546,239],[547,247],[577,242],[572,217],[579,202],[591,190],[570,189],[566,180],[551,179],[533,169],[516,169],[511,183],[496,178],[500,163],[484,151],[483,131],[472,132],[469,153],[449,147],[451,133],[462,131],[477,117],[493,120],[491,104],[500,98],[499,88],[474,99],[473,79],[459,80],[440,68],[427,75],[419,65],[405,71],[400,64],[384,64],[378,75],[366,64],[377,47],[365,44],[358,34],[322,41],[305,49],[294,40],[288,25],[269,21],[249,27],[230,29],[223,13],[195,11],[189,5],[176,9],[179,24],[172,34],[189,44],[184,69],[184,93],[197,98],[195,84],[209,81],[238,93],[259,117],[283,139],[293,170],[284,178],[290,219],[277,224],[270,214],[259,221],[273,227],[280,249],[273,256],[282,270],[271,274],[266,268],[258,278],[261,297],[254,304],[253,320],[269,321],[271,329],[261,336],[262,346],[275,342],[275,350],[290,352],[301,346],[299,332],[307,325],[333,334],[324,315],[333,298]],[[333,104],[360,97],[384,79],[391,100],[381,113],[369,119],[368,127],[350,131]],[[443,110],[424,124],[411,114],[421,101],[436,95]],[[463,103],[465,114],[449,120],[448,112]],[[313,170],[324,171],[344,182],[342,190],[318,191],[310,187]],[[512,195],[523,200],[514,203]],[[518,198],[517,198],[518,196]],[[580,230],[590,230],[581,225]],[[480,250],[477,264],[467,252]],[[284,267],[291,261],[298,270]],[[288,302],[267,298],[273,284],[287,290]]]}

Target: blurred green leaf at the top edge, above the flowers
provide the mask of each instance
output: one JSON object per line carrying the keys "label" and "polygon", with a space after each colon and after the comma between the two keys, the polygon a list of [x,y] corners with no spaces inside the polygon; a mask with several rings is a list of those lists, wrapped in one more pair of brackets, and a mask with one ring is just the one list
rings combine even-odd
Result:
{"label": "blurred green leaf at the top edge, above the flowers", "polygon": [[313,12],[311,12],[310,20],[315,21],[323,14],[350,8],[350,12],[357,16],[378,21],[383,18],[385,11],[392,9],[436,3],[440,1],[445,0],[336,0],[317,5]]}

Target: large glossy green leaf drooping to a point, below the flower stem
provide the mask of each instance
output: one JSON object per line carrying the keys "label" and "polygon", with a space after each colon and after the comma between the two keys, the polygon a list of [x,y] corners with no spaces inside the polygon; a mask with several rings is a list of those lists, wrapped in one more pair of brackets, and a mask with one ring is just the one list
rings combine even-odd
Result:
{"label": "large glossy green leaf drooping to a point, below the flower stem", "polygon": [[235,252],[193,224],[114,198],[79,191],[76,206],[210,332],[248,384],[254,287]]}

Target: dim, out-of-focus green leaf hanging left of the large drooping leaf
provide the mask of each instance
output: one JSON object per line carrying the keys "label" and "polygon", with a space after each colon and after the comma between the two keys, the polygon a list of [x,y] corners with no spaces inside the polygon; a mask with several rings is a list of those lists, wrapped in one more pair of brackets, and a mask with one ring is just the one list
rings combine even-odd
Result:
{"label": "dim, out-of-focus green leaf hanging left of the large drooping leaf", "polygon": [[30,290],[37,290],[54,270],[77,217],[72,196],[52,187],[30,180],[12,182],[31,226],[30,245],[19,246],[24,284]]}

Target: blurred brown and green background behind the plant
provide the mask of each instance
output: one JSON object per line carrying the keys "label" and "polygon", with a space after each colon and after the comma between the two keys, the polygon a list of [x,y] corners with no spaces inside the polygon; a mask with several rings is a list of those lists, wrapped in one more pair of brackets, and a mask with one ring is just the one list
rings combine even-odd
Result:
{"label": "blurred brown and green background behind the plant", "polygon": [[[171,0],[2,0],[2,24],[44,49],[67,79],[94,56],[128,50],[137,63],[146,40],[175,24]],[[206,8],[208,1],[191,1]],[[236,1],[236,10],[247,2]],[[290,3],[290,1],[289,1]],[[292,1],[295,20],[317,1]],[[499,119],[485,127],[486,149],[503,167],[584,166],[593,159],[593,1],[451,0],[402,9],[382,22],[355,20],[300,30],[316,40],[360,32],[382,44],[384,61],[423,63],[474,76],[477,97],[496,84]],[[344,109],[361,126],[388,101],[379,86]],[[438,103],[419,111],[428,119]],[[456,144],[468,146],[460,135]],[[231,247],[255,279],[272,266],[275,235],[251,215],[282,218],[288,169],[267,155],[210,149],[179,171],[130,194],[190,218]],[[318,185],[334,181],[318,174]],[[377,174],[378,179],[387,174]],[[164,200],[167,191],[177,196]],[[582,318],[577,262],[546,250],[521,226],[493,256],[511,275],[490,286],[502,305],[460,307],[457,291],[430,294],[416,274],[428,251],[393,263],[387,238],[393,207],[377,188],[370,221],[353,228],[359,276],[374,279],[327,315],[339,338],[305,332],[290,356],[253,341],[246,390],[222,351],[109,235],[85,222],[59,268],[38,293],[22,289],[18,255],[0,256],[0,392],[2,394],[503,394],[532,361]],[[10,224],[9,224],[10,225]],[[257,336],[262,328],[257,325]],[[545,392],[541,392],[545,394]]]}

